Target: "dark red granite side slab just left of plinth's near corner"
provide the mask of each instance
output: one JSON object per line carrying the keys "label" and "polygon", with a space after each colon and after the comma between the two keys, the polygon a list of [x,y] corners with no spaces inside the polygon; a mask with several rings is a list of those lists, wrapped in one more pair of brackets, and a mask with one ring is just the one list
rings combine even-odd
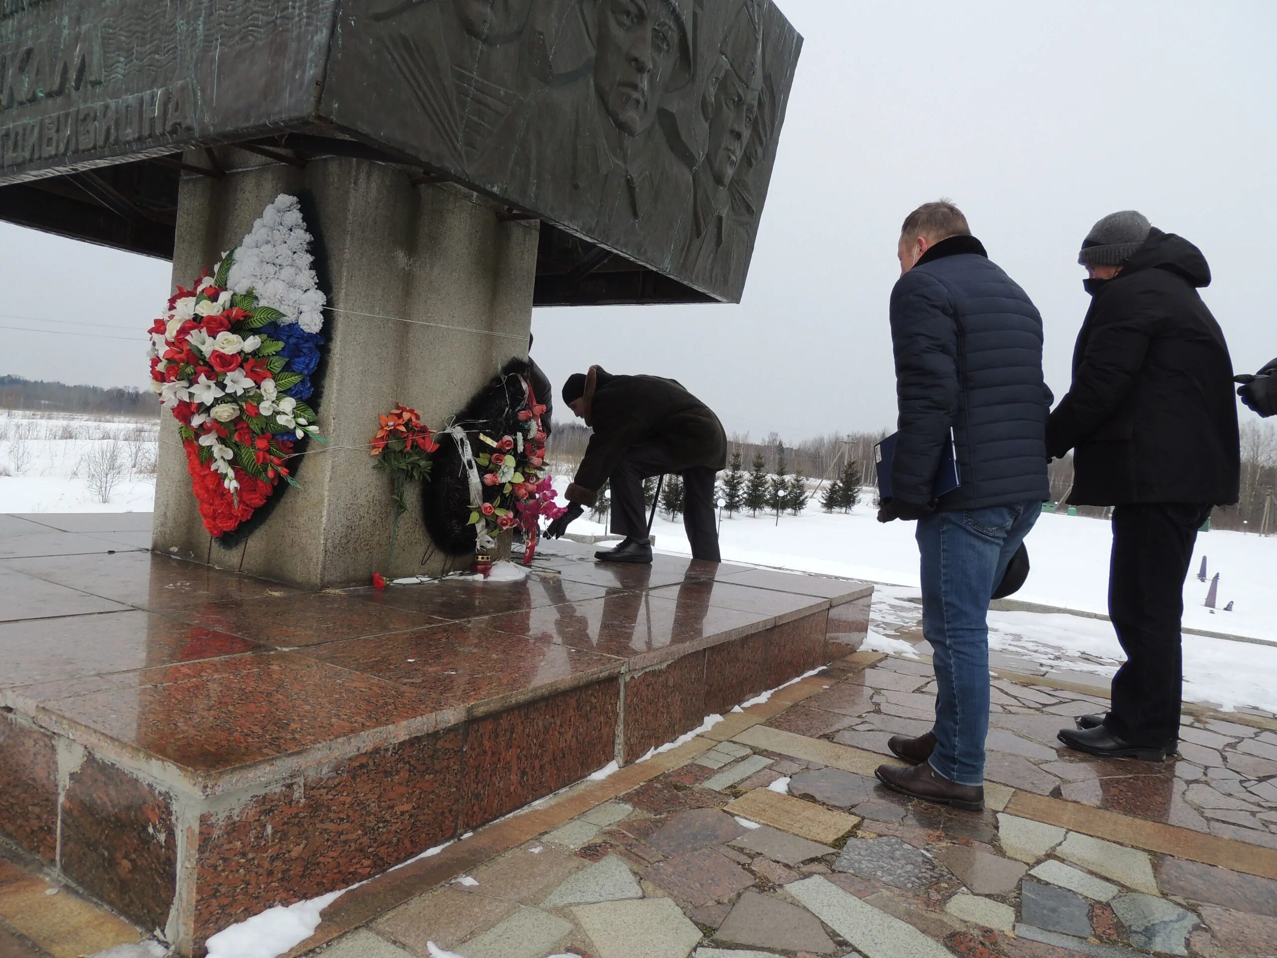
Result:
{"label": "dark red granite side slab just left of plinth's near corner", "polygon": [[163,929],[176,893],[178,832],[167,795],[86,756],[61,807],[63,871],[147,929]]}

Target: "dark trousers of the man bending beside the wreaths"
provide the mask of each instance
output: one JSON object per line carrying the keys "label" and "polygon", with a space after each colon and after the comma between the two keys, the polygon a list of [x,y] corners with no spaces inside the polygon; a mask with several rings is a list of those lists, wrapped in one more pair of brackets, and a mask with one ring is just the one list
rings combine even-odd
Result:
{"label": "dark trousers of the man bending beside the wreaths", "polygon": [[683,478],[683,529],[692,544],[692,558],[720,562],[714,515],[714,479],[718,471],[679,462],[655,443],[631,447],[608,480],[612,484],[613,531],[646,539],[647,508],[642,501],[642,480],[674,473]]}

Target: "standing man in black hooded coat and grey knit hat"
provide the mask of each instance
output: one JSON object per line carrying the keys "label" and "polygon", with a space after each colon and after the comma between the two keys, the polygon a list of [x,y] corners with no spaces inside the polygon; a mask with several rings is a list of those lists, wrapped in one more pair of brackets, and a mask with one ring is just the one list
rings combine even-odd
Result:
{"label": "standing man in black hooded coat and grey knit hat", "polygon": [[1074,451],[1073,505],[1114,506],[1108,612],[1126,662],[1105,717],[1060,740],[1094,755],[1161,761],[1179,742],[1184,579],[1213,506],[1237,501],[1240,445],[1232,361],[1198,290],[1202,252],[1140,213],[1097,222],[1078,262],[1091,309],[1073,386],[1051,413],[1047,447]]}

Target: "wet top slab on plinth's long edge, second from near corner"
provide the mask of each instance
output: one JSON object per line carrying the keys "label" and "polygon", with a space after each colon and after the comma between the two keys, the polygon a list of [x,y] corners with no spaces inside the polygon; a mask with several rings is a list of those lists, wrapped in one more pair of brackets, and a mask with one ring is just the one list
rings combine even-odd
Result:
{"label": "wet top slab on plinth's long edge, second from near corner", "polygon": [[624,665],[474,621],[314,645],[299,654],[410,688],[424,711],[441,715],[441,724],[614,677]]}

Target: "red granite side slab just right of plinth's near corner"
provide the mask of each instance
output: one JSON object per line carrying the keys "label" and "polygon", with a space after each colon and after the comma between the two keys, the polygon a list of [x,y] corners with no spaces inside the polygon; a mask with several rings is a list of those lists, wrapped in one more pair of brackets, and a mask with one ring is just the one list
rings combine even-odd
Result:
{"label": "red granite side slab just right of plinth's near corner", "polygon": [[462,733],[450,728],[310,769],[199,817],[197,944],[275,904],[381,874],[457,835]]}

